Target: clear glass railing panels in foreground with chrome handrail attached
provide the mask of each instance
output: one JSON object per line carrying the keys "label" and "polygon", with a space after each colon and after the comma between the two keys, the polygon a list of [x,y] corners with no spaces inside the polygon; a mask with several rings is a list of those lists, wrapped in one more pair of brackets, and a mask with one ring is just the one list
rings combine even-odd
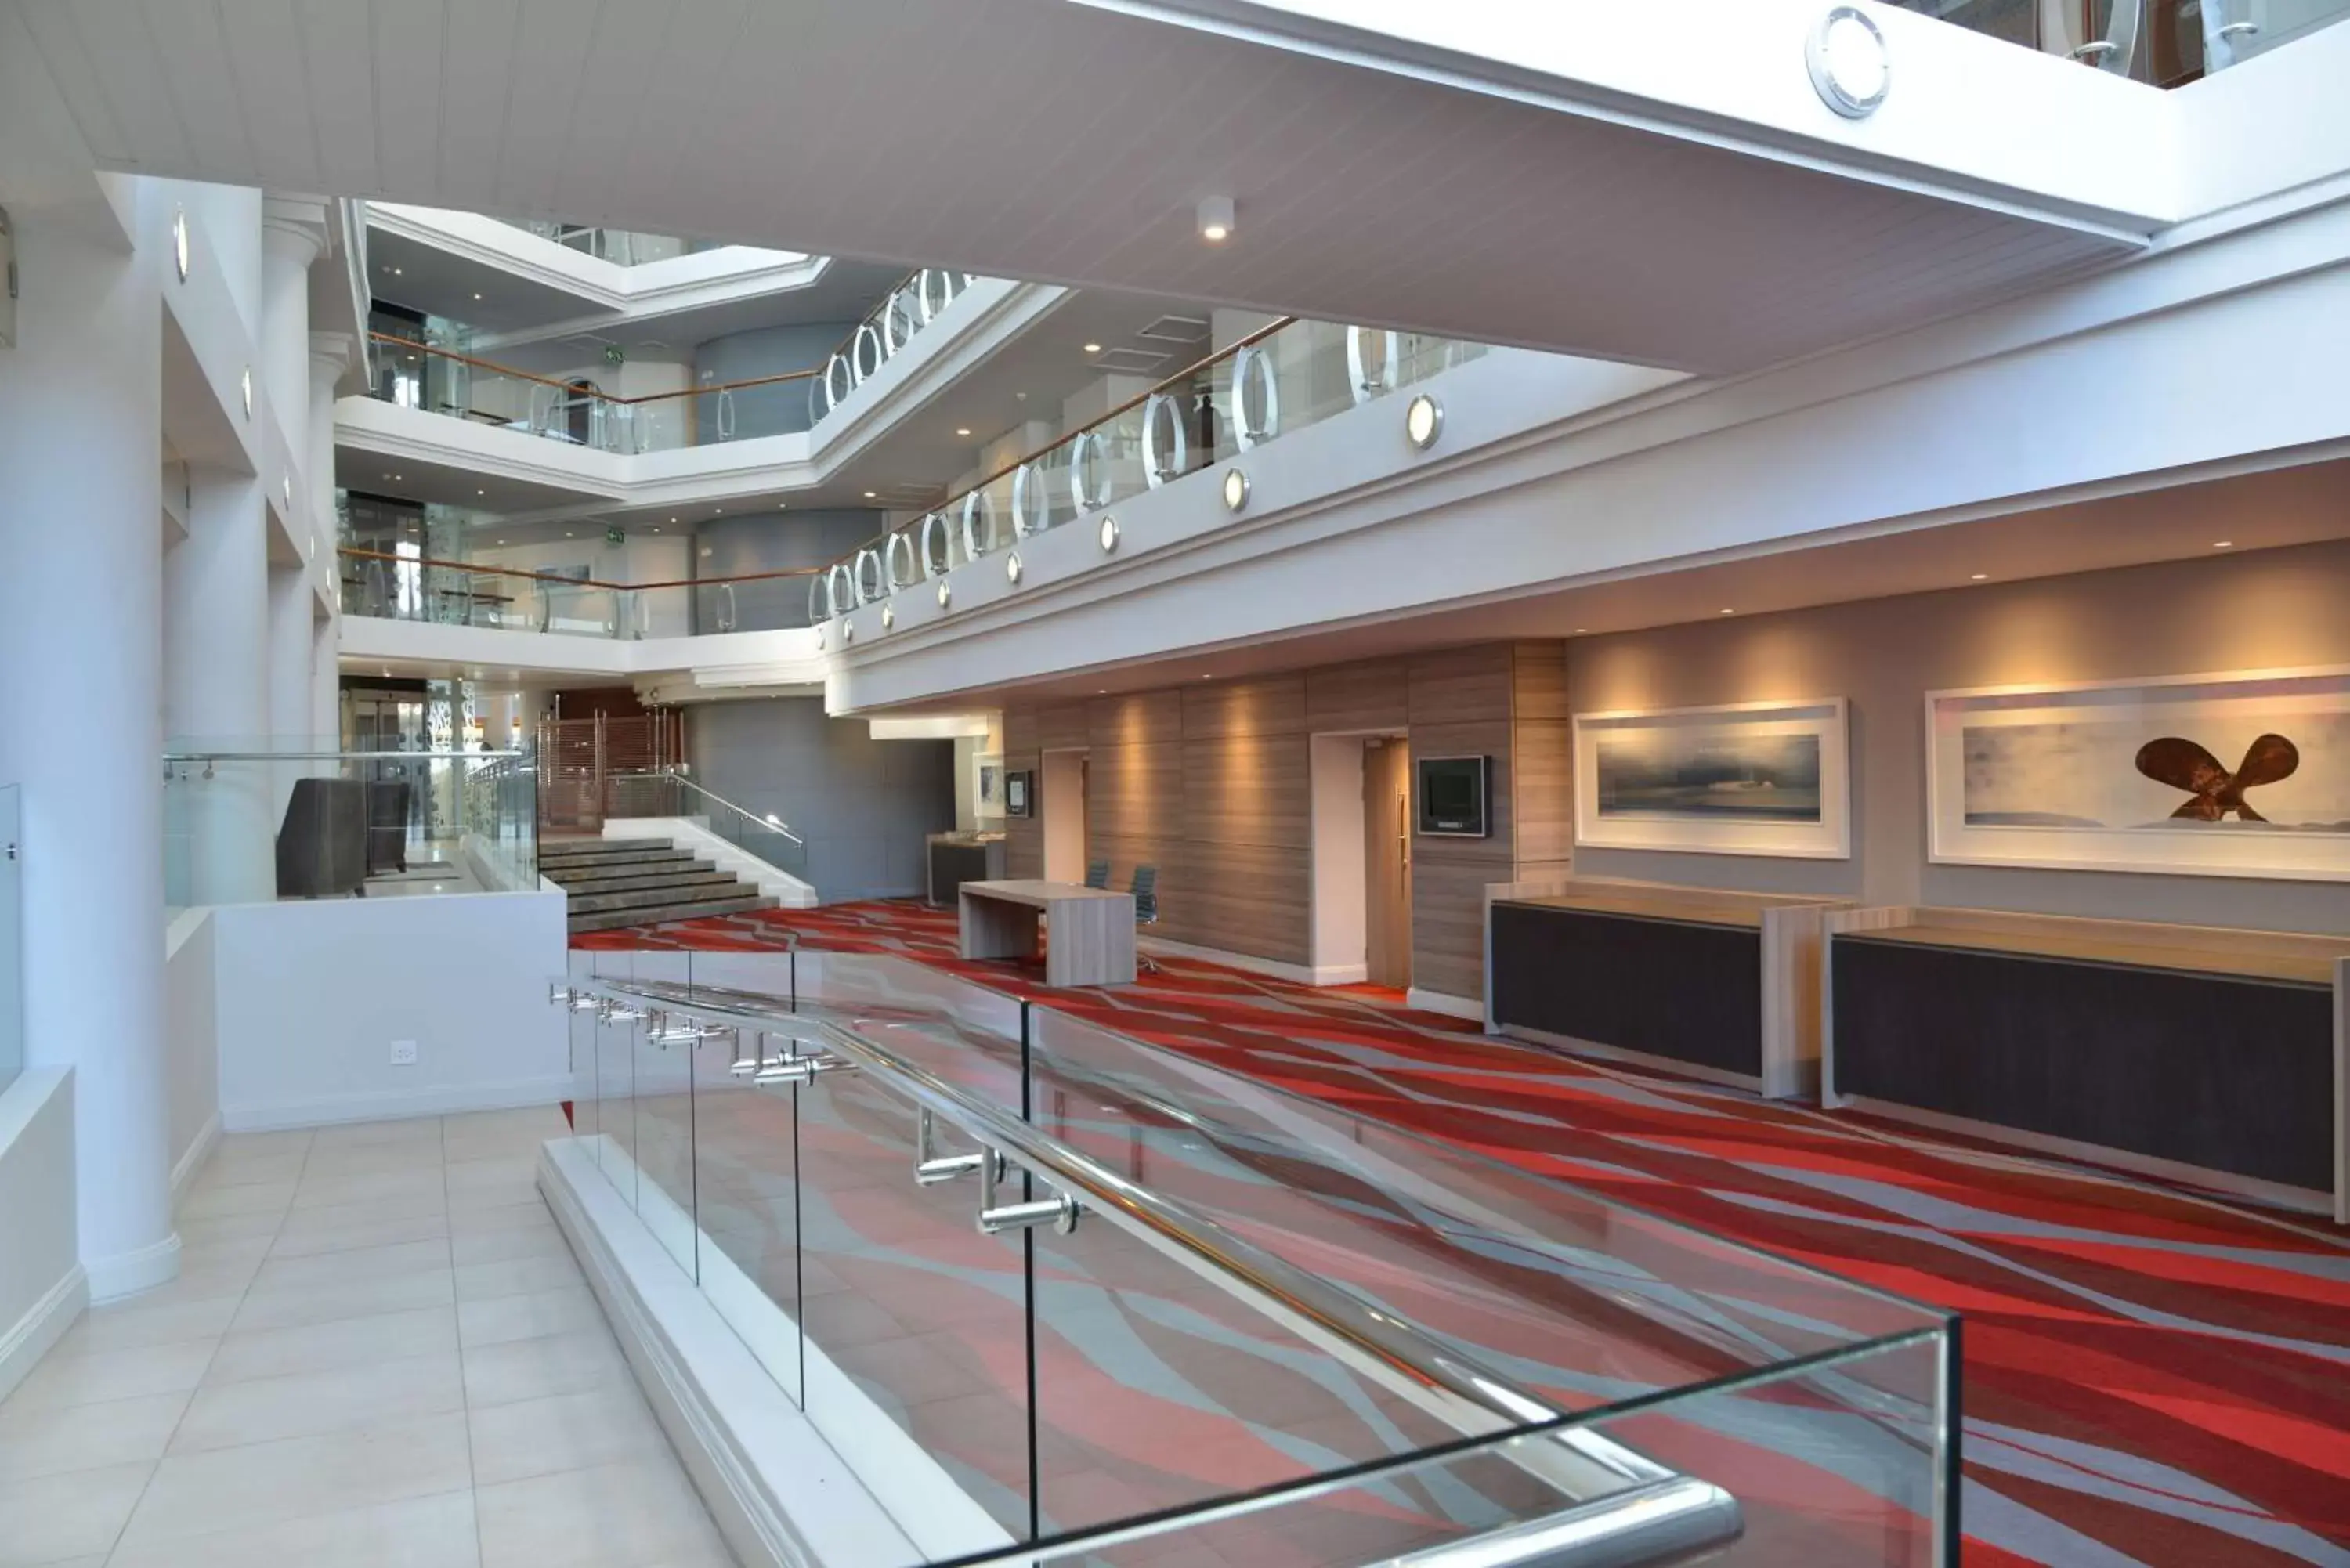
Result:
{"label": "clear glass railing panels in foreground with chrome handrail attached", "polygon": [[1958,1561],[1941,1312],[888,954],[550,999],[585,1180],[905,1563]]}

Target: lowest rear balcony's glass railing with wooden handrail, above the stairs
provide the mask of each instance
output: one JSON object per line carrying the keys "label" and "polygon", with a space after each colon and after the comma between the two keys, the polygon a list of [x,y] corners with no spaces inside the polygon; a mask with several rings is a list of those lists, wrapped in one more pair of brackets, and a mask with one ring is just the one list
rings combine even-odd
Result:
{"label": "lowest rear balcony's glass railing with wooden handrail, above the stairs", "polygon": [[703,637],[808,625],[801,581],[818,569],[604,583],[491,562],[343,545],[343,614],[559,637]]}

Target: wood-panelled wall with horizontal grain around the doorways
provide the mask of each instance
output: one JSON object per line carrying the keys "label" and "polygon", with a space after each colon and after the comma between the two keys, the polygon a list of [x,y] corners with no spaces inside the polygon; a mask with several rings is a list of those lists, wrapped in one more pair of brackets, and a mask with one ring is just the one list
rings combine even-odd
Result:
{"label": "wood-panelled wall with horizontal grain around the doorways", "polygon": [[[1443,649],[1090,703],[1013,705],[1003,766],[1088,755],[1086,856],[1112,886],[1159,867],[1156,936],[1314,961],[1309,738],[1403,729],[1415,757],[1492,757],[1492,837],[1412,839],[1412,983],[1483,994],[1488,882],[1565,875],[1567,661],[1556,642]],[[1008,823],[1008,875],[1043,875],[1039,818]]]}

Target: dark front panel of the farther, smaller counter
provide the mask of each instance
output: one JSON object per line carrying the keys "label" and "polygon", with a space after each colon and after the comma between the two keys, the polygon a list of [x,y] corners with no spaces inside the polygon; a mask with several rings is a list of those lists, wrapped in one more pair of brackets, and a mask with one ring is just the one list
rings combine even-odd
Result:
{"label": "dark front panel of the farther, smaller counter", "polygon": [[1762,933],[1596,910],[1492,907],[1495,1023],[1762,1072]]}

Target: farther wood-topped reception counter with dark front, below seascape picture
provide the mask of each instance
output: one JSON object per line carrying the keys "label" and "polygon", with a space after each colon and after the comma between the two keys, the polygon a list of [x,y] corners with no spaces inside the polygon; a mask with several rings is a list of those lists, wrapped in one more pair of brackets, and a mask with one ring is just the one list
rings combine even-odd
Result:
{"label": "farther wood-topped reception counter with dark front, below seascape picture", "polygon": [[1485,1006],[1502,1034],[1758,1088],[1819,1084],[1833,898],[1626,882],[1495,889]]}

